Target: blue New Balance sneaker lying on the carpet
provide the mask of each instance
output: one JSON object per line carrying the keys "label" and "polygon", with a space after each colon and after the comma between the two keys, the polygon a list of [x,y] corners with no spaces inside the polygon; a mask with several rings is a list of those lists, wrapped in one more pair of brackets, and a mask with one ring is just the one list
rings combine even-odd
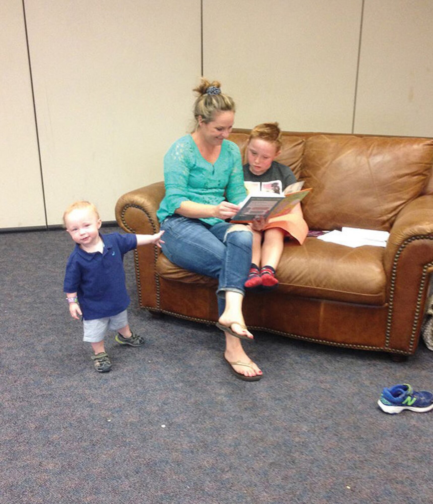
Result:
{"label": "blue New Balance sneaker lying on the carpet", "polygon": [[404,383],[385,388],[378,404],[386,413],[400,413],[405,409],[424,413],[433,409],[433,394],[425,390],[415,392],[409,384]]}

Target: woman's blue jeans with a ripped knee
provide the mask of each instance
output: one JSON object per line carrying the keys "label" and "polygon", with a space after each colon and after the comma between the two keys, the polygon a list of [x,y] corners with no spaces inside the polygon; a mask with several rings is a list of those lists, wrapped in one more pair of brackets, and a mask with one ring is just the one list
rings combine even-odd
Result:
{"label": "woman's blue jeans with a ripped knee", "polygon": [[244,283],[251,266],[253,234],[228,229],[233,224],[210,226],[199,219],[172,215],[161,223],[162,251],[172,263],[185,270],[218,278],[218,313],[224,311],[225,291],[245,293]]}

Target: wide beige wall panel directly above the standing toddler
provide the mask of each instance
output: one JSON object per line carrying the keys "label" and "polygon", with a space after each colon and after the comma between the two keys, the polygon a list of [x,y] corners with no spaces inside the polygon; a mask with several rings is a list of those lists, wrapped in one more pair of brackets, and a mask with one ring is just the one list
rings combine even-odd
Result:
{"label": "wide beige wall panel directly above the standing toddler", "polygon": [[163,178],[201,72],[199,0],[41,0],[27,22],[48,223],[77,199],[114,220]]}

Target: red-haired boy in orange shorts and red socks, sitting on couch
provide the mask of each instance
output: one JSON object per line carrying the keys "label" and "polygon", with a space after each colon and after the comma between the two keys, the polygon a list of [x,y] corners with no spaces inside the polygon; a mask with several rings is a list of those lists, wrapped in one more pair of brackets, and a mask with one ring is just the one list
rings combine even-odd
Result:
{"label": "red-haired boy in orange shorts and red socks, sitting on couch", "polygon": [[[246,147],[248,163],[243,166],[247,189],[248,182],[259,182],[261,191],[282,193],[285,187],[296,182],[292,170],[275,161],[280,152],[278,122],[265,122],[252,130]],[[308,233],[300,203],[289,214],[268,219],[263,226],[263,230],[253,231],[252,265],[245,282],[247,289],[275,288],[278,285],[275,270],[283,253],[284,237],[291,236],[302,244]]]}

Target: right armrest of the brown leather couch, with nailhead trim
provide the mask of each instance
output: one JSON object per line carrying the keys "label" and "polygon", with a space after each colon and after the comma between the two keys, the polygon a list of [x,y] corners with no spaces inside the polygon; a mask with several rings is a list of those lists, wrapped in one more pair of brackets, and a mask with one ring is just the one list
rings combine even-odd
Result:
{"label": "right armrest of the brown leather couch, with nailhead trim", "polygon": [[433,196],[406,205],[397,216],[384,255],[388,276],[387,343],[399,348],[411,335],[416,348],[422,313],[433,271]]}

